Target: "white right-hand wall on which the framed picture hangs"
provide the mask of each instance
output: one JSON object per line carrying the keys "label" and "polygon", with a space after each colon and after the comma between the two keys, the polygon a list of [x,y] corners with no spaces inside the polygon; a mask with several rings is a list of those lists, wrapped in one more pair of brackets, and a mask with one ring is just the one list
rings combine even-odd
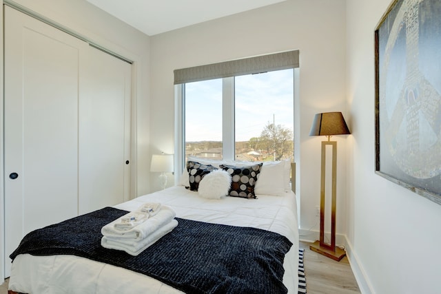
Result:
{"label": "white right-hand wall on which the framed picture hangs", "polygon": [[440,293],[441,206],[374,173],[373,32],[390,2],[347,1],[347,238],[363,293]]}

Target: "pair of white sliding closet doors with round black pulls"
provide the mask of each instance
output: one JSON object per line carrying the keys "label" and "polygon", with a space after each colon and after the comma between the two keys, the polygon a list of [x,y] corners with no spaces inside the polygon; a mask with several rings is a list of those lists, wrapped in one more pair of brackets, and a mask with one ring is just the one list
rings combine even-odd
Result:
{"label": "pair of white sliding closet doors with round black pulls", "polygon": [[23,236],[129,199],[132,65],[5,7],[5,261]]}

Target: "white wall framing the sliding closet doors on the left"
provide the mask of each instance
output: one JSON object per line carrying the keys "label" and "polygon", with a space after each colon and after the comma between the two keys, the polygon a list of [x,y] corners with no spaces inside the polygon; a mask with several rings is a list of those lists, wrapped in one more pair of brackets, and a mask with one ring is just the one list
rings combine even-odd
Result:
{"label": "white wall framing the sliding closet doors on the left", "polygon": [[[133,177],[134,191],[132,195],[139,196],[147,193],[150,187],[150,120],[149,112],[149,81],[150,81],[150,37],[135,30],[129,25],[111,17],[109,14],[99,10],[95,6],[83,0],[17,0],[14,1],[20,6],[32,10],[37,14],[51,19],[70,30],[86,36],[95,43],[112,50],[121,56],[135,61],[134,89],[136,94],[134,100],[134,121],[135,126],[133,137],[136,139],[132,151],[136,152],[137,170]],[[3,23],[1,19],[0,23]],[[3,32],[3,28],[0,30]],[[3,42],[3,36],[0,38]],[[3,48],[3,43],[1,43]],[[3,54],[0,54],[3,56]],[[3,60],[1,60],[3,68]],[[3,71],[1,72],[3,74]],[[0,154],[3,154],[3,78],[0,84]],[[3,179],[3,160],[0,159],[0,176]],[[3,182],[1,182],[3,183]],[[3,185],[1,185],[3,187]],[[3,188],[0,189],[0,211],[3,211]],[[3,216],[3,213],[1,213]],[[0,235],[3,240],[3,217],[0,218]],[[0,282],[3,281],[3,242],[0,243]]]}

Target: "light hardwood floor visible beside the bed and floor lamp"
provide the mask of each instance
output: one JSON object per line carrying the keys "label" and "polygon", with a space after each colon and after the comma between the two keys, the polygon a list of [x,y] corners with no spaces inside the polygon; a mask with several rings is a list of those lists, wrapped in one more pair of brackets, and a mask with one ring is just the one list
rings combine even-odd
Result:
{"label": "light hardwood floor visible beside the bed and floor lamp", "polygon": [[[360,293],[347,258],[331,260],[309,249],[309,243],[300,241],[305,249],[304,264],[307,294]],[[0,286],[0,294],[8,293],[8,282]]]}

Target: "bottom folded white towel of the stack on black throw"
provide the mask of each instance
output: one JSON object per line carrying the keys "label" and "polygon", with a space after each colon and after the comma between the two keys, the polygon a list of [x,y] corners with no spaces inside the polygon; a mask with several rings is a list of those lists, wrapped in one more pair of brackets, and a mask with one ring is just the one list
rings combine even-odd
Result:
{"label": "bottom folded white towel of the stack on black throw", "polygon": [[152,246],[156,241],[163,238],[164,235],[170,233],[178,225],[177,220],[172,220],[167,224],[163,225],[161,228],[154,231],[152,234],[148,235],[146,238],[140,241],[128,242],[128,240],[121,240],[118,238],[111,238],[103,236],[101,238],[101,246],[107,249],[116,249],[129,253],[130,255],[136,256],[143,252],[148,247]]}

